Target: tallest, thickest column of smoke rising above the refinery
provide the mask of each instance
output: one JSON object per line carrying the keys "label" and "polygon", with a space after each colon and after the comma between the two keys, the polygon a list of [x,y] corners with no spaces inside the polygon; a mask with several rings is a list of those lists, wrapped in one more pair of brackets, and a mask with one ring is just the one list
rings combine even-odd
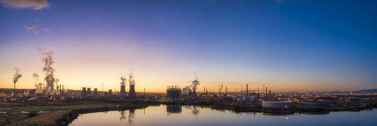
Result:
{"label": "tallest, thickest column of smoke rising above the refinery", "polygon": [[44,52],[42,49],[38,49],[38,51],[44,56],[42,61],[44,62],[43,72],[45,72],[46,75],[46,89],[48,89],[48,92],[52,93],[54,91],[54,84],[56,81],[54,77],[55,69],[52,68],[52,65],[55,63],[55,61],[53,60],[53,52]]}

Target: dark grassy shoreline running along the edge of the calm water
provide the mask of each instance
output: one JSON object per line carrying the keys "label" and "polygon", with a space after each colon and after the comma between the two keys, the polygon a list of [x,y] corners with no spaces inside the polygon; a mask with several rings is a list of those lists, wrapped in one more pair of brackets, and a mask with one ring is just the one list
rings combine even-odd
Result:
{"label": "dark grassy shoreline running along the edge of the calm water", "polygon": [[[193,104],[193,103],[143,103],[143,104],[124,104],[124,103],[69,103],[70,105],[64,106],[41,106],[41,105],[28,105],[23,106],[25,108],[38,108],[38,110],[50,111],[46,113],[39,112],[37,116],[25,118],[28,113],[22,113],[24,116],[21,119],[15,119],[8,121],[5,125],[69,125],[79,114],[106,112],[106,111],[119,111],[119,110],[131,110],[131,109],[143,109],[148,106],[160,106],[160,105],[190,105],[190,106],[202,106],[210,107],[216,110],[230,110],[234,112],[260,112],[260,113],[318,113],[318,112],[335,112],[335,111],[361,111],[365,109],[374,109],[377,106],[369,107],[328,107],[328,108],[261,108],[250,107],[240,105],[224,104],[224,102],[215,102],[213,104]],[[73,106],[73,108],[72,108]],[[71,107],[71,108],[70,108]],[[25,109],[27,110],[27,109]],[[18,112],[0,113],[0,115],[10,115]],[[1,117],[0,117],[1,118]],[[7,119],[7,118],[6,118]],[[5,120],[6,120],[5,119]],[[9,119],[9,118],[8,118]],[[1,119],[0,119],[1,120]],[[4,120],[4,119],[3,119]],[[38,121],[36,121],[38,120]],[[5,122],[2,122],[3,124]],[[0,122],[1,124],[1,122]]]}

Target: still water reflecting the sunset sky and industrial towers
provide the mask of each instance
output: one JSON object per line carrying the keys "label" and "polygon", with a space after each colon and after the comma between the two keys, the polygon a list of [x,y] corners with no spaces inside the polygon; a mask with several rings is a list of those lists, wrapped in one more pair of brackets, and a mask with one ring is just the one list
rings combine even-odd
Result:
{"label": "still water reflecting the sunset sky and industrial towers", "polygon": [[377,109],[276,114],[161,105],[82,114],[70,125],[377,125]]}

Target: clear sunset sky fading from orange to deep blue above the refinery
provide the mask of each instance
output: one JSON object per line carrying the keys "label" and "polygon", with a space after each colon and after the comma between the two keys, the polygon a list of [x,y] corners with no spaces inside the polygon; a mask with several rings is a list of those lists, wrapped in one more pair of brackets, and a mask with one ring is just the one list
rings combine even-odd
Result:
{"label": "clear sunset sky fading from orange to deep blue above the refinery", "polygon": [[[34,88],[53,51],[59,84],[166,92],[377,88],[377,1],[0,0],[0,88]],[[126,86],[127,87],[127,86]],[[128,88],[126,88],[128,90]]]}

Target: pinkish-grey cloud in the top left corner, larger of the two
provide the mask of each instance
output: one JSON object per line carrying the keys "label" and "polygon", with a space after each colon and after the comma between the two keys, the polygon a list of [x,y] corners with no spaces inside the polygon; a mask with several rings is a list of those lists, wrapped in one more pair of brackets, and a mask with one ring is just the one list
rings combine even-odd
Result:
{"label": "pinkish-grey cloud in the top left corner, larger of the two", "polygon": [[7,8],[28,8],[33,10],[40,10],[42,8],[50,7],[47,0],[0,0],[4,7]]}

